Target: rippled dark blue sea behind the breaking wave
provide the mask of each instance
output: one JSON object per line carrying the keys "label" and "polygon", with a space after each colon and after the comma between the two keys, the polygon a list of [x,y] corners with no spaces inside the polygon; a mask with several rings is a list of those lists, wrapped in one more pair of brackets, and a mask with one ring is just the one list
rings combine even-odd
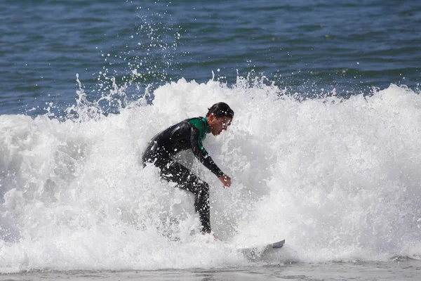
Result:
{"label": "rippled dark blue sea behind the breaking wave", "polygon": [[0,114],[65,109],[76,73],[88,99],[115,79],[125,103],[212,72],[302,96],[417,91],[421,80],[420,1],[6,0],[0,18]]}

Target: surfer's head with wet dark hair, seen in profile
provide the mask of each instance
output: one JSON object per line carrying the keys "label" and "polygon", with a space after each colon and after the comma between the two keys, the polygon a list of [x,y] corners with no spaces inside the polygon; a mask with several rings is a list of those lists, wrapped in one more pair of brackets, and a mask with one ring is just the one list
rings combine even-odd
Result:
{"label": "surfer's head with wet dark hair, seen in profile", "polygon": [[226,103],[215,103],[208,108],[206,119],[210,133],[213,136],[218,136],[222,131],[227,131],[228,126],[231,125],[232,118],[234,118],[234,111]]}

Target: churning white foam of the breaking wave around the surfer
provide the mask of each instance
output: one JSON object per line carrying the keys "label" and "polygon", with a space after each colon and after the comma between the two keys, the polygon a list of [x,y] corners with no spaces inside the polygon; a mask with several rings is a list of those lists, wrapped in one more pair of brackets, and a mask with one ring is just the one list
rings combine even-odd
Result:
{"label": "churning white foam of the breaking wave around the surfer", "polygon": [[[224,101],[229,130],[204,146],[233,184],[210,184],[198,234],[189,193],[140,155],[156,133]],[[238,247],[286,239],[285,261],[421,255],[421,97],[404,86],[298,100],[275,86],[180,79],[116,115],[0,116],[0,272],[218,268]],[[192,157],[192,155],[185,155]]]}

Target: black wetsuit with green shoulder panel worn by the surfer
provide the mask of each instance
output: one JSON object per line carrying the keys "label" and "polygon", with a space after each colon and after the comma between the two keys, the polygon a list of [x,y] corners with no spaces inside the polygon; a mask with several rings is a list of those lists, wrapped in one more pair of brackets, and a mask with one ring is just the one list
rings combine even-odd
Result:
{"label": "black wetsuit with green shoulder panel worn by the surfer", "polygon": [[158,133],[143,152],[143,163],[153,163],[161,170],[161,177],[178,183],[178,188],[193,192],[194,209],[199,213],[203,233],[210,233],[209,185],[192,171],[175,162],[173,157],[182,150],[192,150],[194,156],[216,176],[224,173],[208,156],[202,140],[209,133],[206,118],[185,119]]}

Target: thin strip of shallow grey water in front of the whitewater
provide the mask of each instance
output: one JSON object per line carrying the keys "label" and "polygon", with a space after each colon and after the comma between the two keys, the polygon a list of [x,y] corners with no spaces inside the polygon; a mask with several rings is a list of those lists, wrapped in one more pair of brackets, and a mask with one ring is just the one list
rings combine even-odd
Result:
{"label": "thin strip of shallow grey water in front of the whitewater", "polygon": [[[420,262],[298,263],[225,270],[46,271],[0,275],[0,280],[419,280]],[[417,277],[418,276],[418,277]]]}

